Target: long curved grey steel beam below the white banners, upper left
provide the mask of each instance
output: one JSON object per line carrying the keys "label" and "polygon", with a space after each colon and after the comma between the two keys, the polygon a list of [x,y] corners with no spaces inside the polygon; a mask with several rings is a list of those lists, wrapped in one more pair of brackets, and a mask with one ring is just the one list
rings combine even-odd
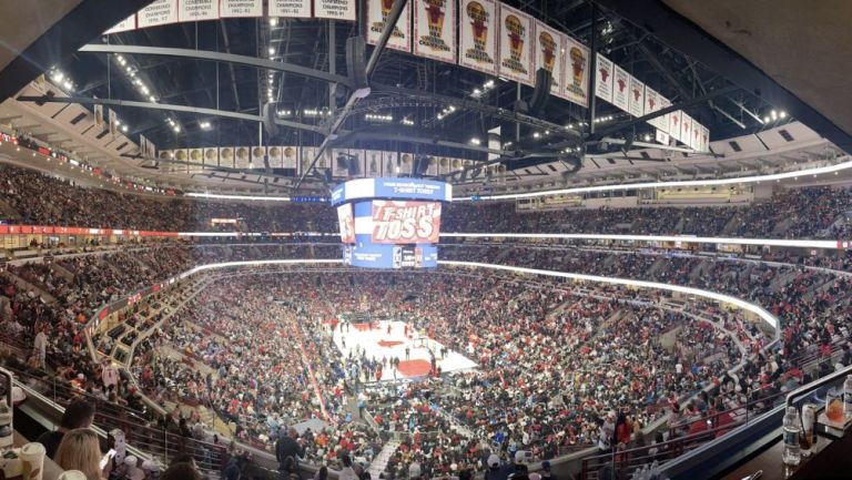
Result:
{"label": "long curved grey steel beam below the white banners, upper left", "polygon": [[344,85],[352,86],[352,81],[347,76],[335,75],[321,70],[308,69],[307,67],[295,65],[292,63],[277,62],[274,60],[258,59],[256,57],[237,55],[234,53],[215,52],[210,50],[192,50],[192,49],[171,49],[163,47],[144,47],[144,45],[106,45],[106,44],[88,44],[80,49],[81,52],[88,53],[122,53],[122,54],[135,54],[135,55],[161,55],[161,57],[176,57],[182,59],[192,60],[207,60],[212,62],[235,63],[241,65],[254,67],[257,69],[276,70],[278,72],[295,73],[303,76],[308,76],[316,80],[322,80],[331,83],[343,83]]}

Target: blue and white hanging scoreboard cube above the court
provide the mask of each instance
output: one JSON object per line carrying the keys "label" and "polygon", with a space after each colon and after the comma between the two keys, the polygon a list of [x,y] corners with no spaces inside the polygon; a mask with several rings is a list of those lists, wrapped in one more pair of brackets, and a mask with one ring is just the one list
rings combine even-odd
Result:
{"label": "blue and white hanging scoreboard cube above the court", "polygon": [[343,258],[367,268],[437,266],[442,202],[452,185],[419,178],[359,178],[332,191]]}

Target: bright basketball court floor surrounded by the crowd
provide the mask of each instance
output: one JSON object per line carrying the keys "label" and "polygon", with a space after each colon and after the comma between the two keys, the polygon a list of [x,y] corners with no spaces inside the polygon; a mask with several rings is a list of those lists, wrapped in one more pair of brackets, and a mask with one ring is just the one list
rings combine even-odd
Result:
{"label": "bright basketball court floor surrounded by the crowd", "polygon": [[[424,335],[408,330],[405,335],[406,324],[403,321],[373,321],[372,324],[352,324],[348,331],[341,331],[341,325],[334,331],[334,344],[347,357],[355,350],[366,351],[367,357],[375,357],[382,361],[383,358],[399,358],[399,369],[396,371],[396,378],[415,378],[428,375],[432,361],[432,355],[435,354],[437,366],[443,372],[466,370],[476,368],[475,361],[463,356],[457,351],[447,351],[446,358],[440,358],[440,349],[444,347],[438,341],[426,338]],[[389,327],[389,330],[388,330]],[[408,348],[408,358],[405,349]],[[387,367],[382,375],[382,381],[394,380],[394,369]]]}

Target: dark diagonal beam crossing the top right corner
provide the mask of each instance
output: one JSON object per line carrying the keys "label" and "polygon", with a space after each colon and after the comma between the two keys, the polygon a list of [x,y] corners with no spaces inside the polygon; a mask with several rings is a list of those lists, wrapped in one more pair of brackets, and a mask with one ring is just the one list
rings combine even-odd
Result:
{"label": "dark diagonal beam crossing the top right corner", "polygon": [[659,0],[596,0],[596,2],[643,31],[651,32],[662,43],[693,58],[709,70],[720,73],[742,90],[751,92],[771,105],[783,105],[793,118],[840,149],[852,152],[852,132],[840,129],[741,54],[663,2]]}

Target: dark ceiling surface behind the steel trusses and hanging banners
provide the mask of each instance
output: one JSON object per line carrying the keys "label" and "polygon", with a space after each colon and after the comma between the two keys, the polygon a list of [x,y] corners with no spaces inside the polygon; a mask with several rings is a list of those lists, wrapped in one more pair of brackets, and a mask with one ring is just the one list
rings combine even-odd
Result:
{"label": "dark ceiling surface behind the steel trusses and hanging banners", "polygon": [[[591,9],[585,0],[530,0],[507,3],[531,13],[549,25],[568,32],[585,43],[591,35]],[[706,92],[729,86],[730,82],[708,71],[700,62],[659,43],[652,35],[619,18],[600,13],[597,22],[599,51],[608,55],[628,72],[659,91],[674,103],[701,96]],[[329,33],[334,29],[335,45],[329,49]],[[346,74],[345,41],[347,37],[362,34],[359,25],[349,22],[326,20],[280,19],[271,25],[267,19],[229,19],[197,23],[176,23],[148,28],[112,35],[104,35],[94,43],[125,45],[151,45],[183,49],[200,49],[242,55],[268,58],[273,49],[276,60],[328,71],[333,59],[338,74]],[[372,50],[367,48],[367,53]],[[333,50],[333,55],[329,54]],[[260,105],[266,102],[270,88],[265,70],[217,63],[212,61],[186,60],[170,57],[125,55],[129,67],[138,69],[138,78],[151,85],[151,95],[160,103],[172,103],[199,108],[212,108],[232,112],[258,114]],[[70,74],[77,84],[77,95],[146,101],[146,96],[131,83],[114,55],[105,53],[78,52],[70,60],[58,65]],[[125,67],[126,68],[126,67]],[[275,73],[272,84],[280,109],[296,112],[293,120],[304,123],[321,123],[322,118],[307,118],[305,110],[328,105],[328,83],[293,73]],[[428,132],[442,139],[467,142],[471,135],[481,135],[491,126],[505,125],[514,133],[515,125],[495,115],[468,109],[458,109],[444,120],[436,120],[446,106],[425,98],[423,93],[410,94],[394,91],[393,88],[439,93],[457,99],[481,102],[485,105],[511,110],[517,95],[514,82],[495,80],[496,88],[480,99],[470,96],[474,89],[481,86],[489,78],[465,68],[425,60],[412,54],[386,50],[373,76],[374,91],[358,103],[343,127],[346,130],[369,129],[364,114],[374,112],[390,114],[396,121],[408,119],[414,126],[396,125],[405,131]],[[387,85],[392,89],[382,89]],[[348,92],[341,89],[334,105],[339,108]],[[521,88],[521,96],[529,99],[532,89]],[[604,102],[598,103],[598,116],[613,115],[613,122],[628,120],[627,115]],[[762,115],[772,105],[760,99],[737,91],[687,109],[687,113],[709,126],[713,139],[742,135],[759,131],[761,124],[751,113]],[[255,144],[258,139],[256,122],[203,118],[194,114],[166,113],[143,109],[118,108],[119,115],[130,126],[128,136],[138,134],[150,137],[159,149],[176,146],[209,146]],[[542,116],[559,125],[582,120],[586,109],[561,99],[551,98]],[[180,132],[166,122],[178,121]],[[210,127],[202,123],[210,122]],[[206,125],[205,125],[206,126]],[[651,132],[650,126],[640,124],[636,134]],[[524,126],[521,136],[528,136],[530,126]],[[633,133],[628,127],[623,134]],[[301,135],[301,139],[300,139]],[[264,136],[264,143],[317,145],[323,137],[311,132],[282,129],[273,139]],[[556,141],[556,140],[555,140]],[[362,141],[356,146],[388,149],[387,141]],[[429,153],[435,152],[429,149]],[[458,152],[446,152],[447,154]],[[466,155],[471,155],[466,152]],[[476,154],[474,154],[476,157]]]}

